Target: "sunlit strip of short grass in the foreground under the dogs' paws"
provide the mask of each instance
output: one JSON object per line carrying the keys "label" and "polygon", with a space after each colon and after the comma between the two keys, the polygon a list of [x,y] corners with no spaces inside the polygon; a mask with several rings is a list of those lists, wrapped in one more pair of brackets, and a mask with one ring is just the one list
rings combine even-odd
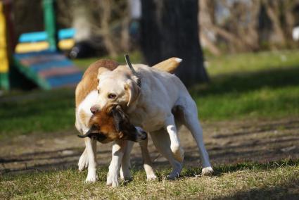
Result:
{"label": "sunlit strip of short grass in the foreground under the dogs' paws", "polygon": [[215,165],[213,177],[198,168],[184,168],[179,180],[168,181],[160,170],[158,181],[146,182],[144,170],[133,170],[133,181],[118,188],[99,182],[84,184],[86,172],[76,169],[0,176],[1,199],[292,199],[298,197],[299,160],[272,163]]}

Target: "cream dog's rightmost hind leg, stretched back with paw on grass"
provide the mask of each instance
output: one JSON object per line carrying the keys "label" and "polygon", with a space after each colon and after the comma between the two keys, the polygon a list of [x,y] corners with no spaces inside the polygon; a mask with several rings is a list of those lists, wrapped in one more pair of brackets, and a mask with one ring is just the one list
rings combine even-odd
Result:
{"label": "cream dog's rightmost hind leg, stretched back with paw on grass", "polygon": [[179,112],[183,114],[184,125],[190,130],[196,144],[199,149],[199,154],[201,156],[201,163],[203,164],[203,175],[212,175],[213,170],[210,164],[210,159],[207,150],[205,149],[205,144],[203,144],[203,129],[198,120],[197,106],[195,102],[190,99],[186,106],[179,106]]}

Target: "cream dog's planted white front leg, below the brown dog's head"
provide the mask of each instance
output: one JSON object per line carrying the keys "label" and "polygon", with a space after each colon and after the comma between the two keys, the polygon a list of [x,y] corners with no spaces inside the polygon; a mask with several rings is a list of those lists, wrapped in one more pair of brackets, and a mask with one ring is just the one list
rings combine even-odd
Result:
{"label": "cream dog's planted white front leg, below the brown dog's head", "polygon": [[120,164],[122,163],[122,156],[124,155],[127,141],[116,140],[112,146],[112,159],[109,165],[109,172],[107,175],[107,185],[118,187],[118,173],[120,172]]}

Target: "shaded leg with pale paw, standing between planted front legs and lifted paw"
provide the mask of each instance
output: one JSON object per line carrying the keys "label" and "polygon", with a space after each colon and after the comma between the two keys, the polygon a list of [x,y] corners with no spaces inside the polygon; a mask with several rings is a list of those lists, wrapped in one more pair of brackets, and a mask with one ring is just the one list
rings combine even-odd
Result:
{"label": "shaded leg with pale paw, standing between planted front legs and lifted paw", "polygon": [[139,142],[142,158],[144,160],[144,170],[146,171],[146,180],[155,180],[157,177],[153,172],[153,163],[148,153],[148,139]]}

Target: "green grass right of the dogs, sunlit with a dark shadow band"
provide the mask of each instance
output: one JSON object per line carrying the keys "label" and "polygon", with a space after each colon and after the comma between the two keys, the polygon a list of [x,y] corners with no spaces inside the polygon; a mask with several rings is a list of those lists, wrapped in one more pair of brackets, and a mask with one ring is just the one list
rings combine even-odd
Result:
{"label": "green grass right of the dogs, sunlit with a dark shadow band", "polygon": [[208,73],[191,89],[203,120],[299,116],[299,51],[210,58]]}

